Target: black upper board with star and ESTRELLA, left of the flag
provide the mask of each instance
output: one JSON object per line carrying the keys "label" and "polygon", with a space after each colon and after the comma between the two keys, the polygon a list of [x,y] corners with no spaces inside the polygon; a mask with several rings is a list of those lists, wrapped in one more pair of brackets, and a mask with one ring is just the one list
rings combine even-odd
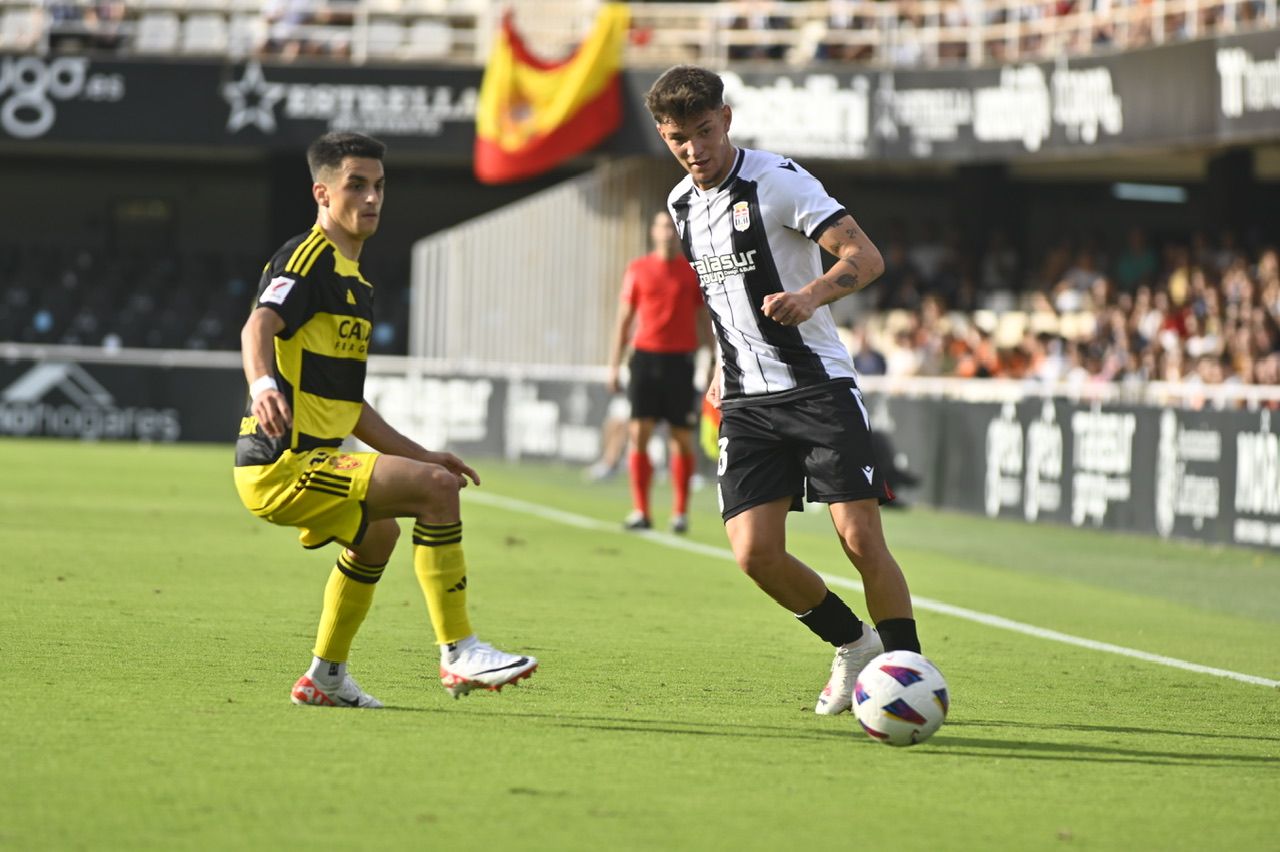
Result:
{"label": "black upper board with star and ESTRELLA, left of the flag", "polygon": [[471,156],[479,69],[0,56],[0,145],[306,147],[361,130]]}

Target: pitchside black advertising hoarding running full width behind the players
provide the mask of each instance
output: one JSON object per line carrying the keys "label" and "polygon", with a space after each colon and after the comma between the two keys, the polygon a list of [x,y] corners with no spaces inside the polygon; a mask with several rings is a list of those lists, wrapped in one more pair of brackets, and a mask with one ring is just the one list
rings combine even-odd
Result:
{"label": "pitchside black advertising hoarding running full width behind the players", "polygon": [[[419,443],[463,457],[590,464],[599,380],[374,370],[366,398]],[[0,440],[236,439],[238,367],[0,361]],[[911,501],[1032,523],[1280,549],[1280,412],[867,395],[916,477]],[[712,459],[700,459],[710,472]]]}

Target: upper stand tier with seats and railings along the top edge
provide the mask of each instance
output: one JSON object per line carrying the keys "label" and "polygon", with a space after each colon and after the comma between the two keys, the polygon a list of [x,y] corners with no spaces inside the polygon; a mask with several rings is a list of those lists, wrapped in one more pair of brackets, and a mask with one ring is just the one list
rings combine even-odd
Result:
{"label": "upper stand tier with seats and railings along the top edge", "polygon": [[[1124,51],[1276,26],[1276,0],[727,0],[631,3],[626,63],[893,68]],[[548,56],[572,50],[593,0],[521,0]],[[4,0],[0,50],[280,55],[483,63],[502,6],[483,0]]]}

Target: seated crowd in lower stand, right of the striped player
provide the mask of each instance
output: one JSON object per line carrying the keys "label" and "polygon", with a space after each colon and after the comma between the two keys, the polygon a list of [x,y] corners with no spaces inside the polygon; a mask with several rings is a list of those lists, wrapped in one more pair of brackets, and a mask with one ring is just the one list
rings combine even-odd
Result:
{"label": "seated crowd in lower stand, right of the striped player", "polygon": [[863,375],[1280,383],[1277,252],[1231,232],[1064,238],[1033,264],[998,232],[977,262],[955,234],[899,233],[886,257],[883,279],[841,308]]}

